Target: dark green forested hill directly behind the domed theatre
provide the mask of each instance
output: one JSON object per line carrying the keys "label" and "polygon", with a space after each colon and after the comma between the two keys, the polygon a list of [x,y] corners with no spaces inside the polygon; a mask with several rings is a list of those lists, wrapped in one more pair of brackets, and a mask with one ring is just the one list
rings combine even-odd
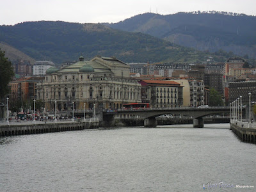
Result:
{"label": "dark green forested hill directly behind the domed theatre", "polygon": [[[102,24],[70,22],[23,22],[0,26],[0,42],[11,45],[35,60],[54,63],[87,60],[94,56],[115,56],[125,62],[204,62],[209,54],[180,47],[166,40],[112,29]],[[225,61],[228,55],[213,56]]]}

